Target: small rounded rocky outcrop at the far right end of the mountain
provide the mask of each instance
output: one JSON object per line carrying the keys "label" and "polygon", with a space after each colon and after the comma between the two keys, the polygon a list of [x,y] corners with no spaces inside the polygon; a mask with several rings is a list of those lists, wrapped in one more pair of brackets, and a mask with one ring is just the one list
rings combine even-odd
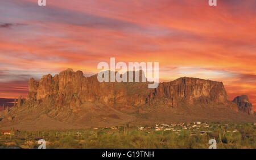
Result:
{"label": "small rounded rocky outcrop at the far right end of the mountain", "polygon": [[253,105],[250,103],[249,98],[246,95],[237,96],[233,100],[237,104],[238,109],[247,114],[254,114]]}

